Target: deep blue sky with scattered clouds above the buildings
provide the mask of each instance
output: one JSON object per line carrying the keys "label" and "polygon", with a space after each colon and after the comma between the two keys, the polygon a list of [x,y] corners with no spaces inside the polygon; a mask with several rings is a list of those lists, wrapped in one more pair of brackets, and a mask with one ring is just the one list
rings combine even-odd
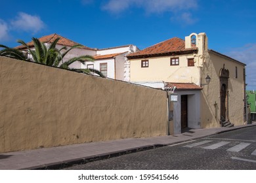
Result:
{"label": "deep blue sky with scattered clouds above the buildings", "polygon": [[247,90],[256,90],[255,0],[1,1],[0,44],[10,47],[58,33],[91,48],[144,49],[201,32],[210,49],[247,64]]}

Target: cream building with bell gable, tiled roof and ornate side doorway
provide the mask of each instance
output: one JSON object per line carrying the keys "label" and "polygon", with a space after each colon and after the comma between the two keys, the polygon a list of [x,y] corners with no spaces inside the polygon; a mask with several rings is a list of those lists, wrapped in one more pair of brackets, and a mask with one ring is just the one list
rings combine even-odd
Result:
{"label": "cream building with bell gable, tiled roof and ornate side doorway", "polygon": [[174,37],[127,58],[131,82],[164,82],[165,89],[175,89],[171,133],[244,124],[245,64],[209,50],[205,33]]}

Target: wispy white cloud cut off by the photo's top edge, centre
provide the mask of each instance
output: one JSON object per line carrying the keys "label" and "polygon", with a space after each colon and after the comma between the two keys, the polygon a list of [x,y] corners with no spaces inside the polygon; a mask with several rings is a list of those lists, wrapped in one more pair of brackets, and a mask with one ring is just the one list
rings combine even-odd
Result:
{"label": "wispy white cloud cut off by the photo's top edge, centre", "polygon": [[118,14],[130,7],[144,8],[147,13],[177,12],[196,8],[197,0],[110,0],[102,9]]}

